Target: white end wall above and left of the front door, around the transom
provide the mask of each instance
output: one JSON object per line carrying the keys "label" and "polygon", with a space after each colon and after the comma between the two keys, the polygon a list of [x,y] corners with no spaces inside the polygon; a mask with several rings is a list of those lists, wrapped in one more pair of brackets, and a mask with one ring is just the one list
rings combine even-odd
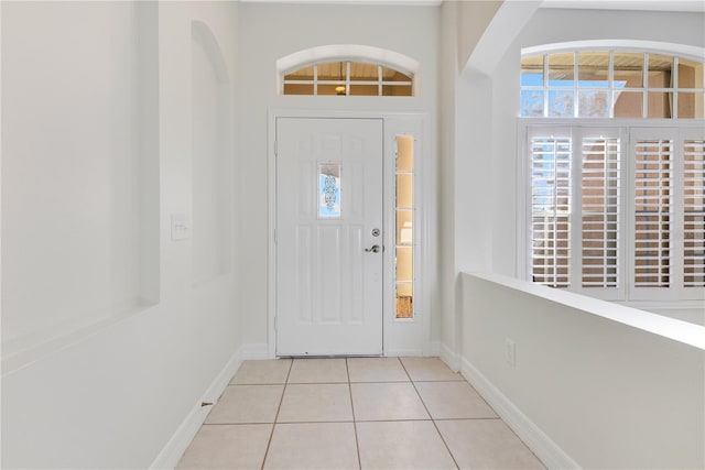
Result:
{"label": "white end wall above and left of the front door, around the transom", "polygon": [[[246,39],[240,44],[240,69],[246,70],[240,94],[242,167],[239,214],[245,221],[240,232],[241,309],[246,313],[245,341],[263,345],[268,341],[268,111],[426,112],[432,123],[433,153],[429,155],[430,164],[425,168],[435,172],[438,9],[242,3],[240,35]],[[297,51],[329,44],[381,47],[419,61],[421,86],[417,96],[279,96],[275,61]],[[434,329],[437,327],[436,318]]]}

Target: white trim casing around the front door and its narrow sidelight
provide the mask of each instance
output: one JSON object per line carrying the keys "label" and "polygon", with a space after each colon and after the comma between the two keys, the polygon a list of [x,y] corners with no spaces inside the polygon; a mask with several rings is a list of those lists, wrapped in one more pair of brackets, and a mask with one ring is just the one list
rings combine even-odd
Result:
{"label": "white trim casing around the front door and its narrow sidelight", "polygon": [[[296,109],[270,109],[269,111],[269,134],[268,134],[268,182],[269,182],[269,250],[268,250],[268,345],[267,351],[268,358],[276,357],[276,330],[275,318],[276,318],[276,244],[274,242],[274,232],[276,229],[276,157],[275,157],[275,140],[276,140],[276,119],[279,118],[316,118],[316,119],[382,119],[384,122],[384,133],[383,133],[383,142],[388,140],[388,132],[395,132],[401,128],[404,128],[402,123],[404,121],[409,121],[409,129],[414,130],[414,133],[417,132],[416,139],[421,140],[421,146],[416,147],[420,152],[420,157],[431,161],[431,149],[433,149],[433,144],[431,142],[432,133],[431,125],[429,124],[429,114],[425,112],[386,112],[386,111],[312,111],[312,110],[296,110]],[[387,151],[384,150],[384,157],[387,157]],[[416,324],[419,325],[421,331],[421,340],[420,348],[413,347],[408,348],[402,346],[394,346],[390,342],[389,330],[393,328],[391,320],[391,311],[388,310],[388,304],[384,304],[384,320],[383,320],[383,353],[386,356],[392,354],[403,354],[408,356],[408,353],[412,353],[413,356],[427,356],[431,351],[431,280],[429,270],[432,269],[433,263],[431,262],[432,251],[431,249],[435,247],[434,240],[432,237],[435,237],[435,232],[433,232],[433,228],[430,227],[427,217],[429,208],[434,207],[435,196],[434,196],[434,174],[431,172],[432,165],[423,165],[423,170],[417,171],[417,183],[416,187],[422,192],[419,193],[421,198],[420,204],[417,204],[417,210],[423,215],[421,217],[421,227],[419,227],[419,233],[421,236],[421,241],[419,245],[415,245],[423,258],[421,262],[421,272],[419,277],[421,278],[420,284],[422,285],[422,289],[417,295],[420,308]],[[414,189],[414,193],[416,189]],[[390,222],[391,220],[391,222]],[[384,232],[386,232],[386,243],[388,243],[389,234],[391,230],[389,227],[390,223],[393,223],[393,214],[384,215]],[[389,244],[388,244],[389,245]],[[386,256],[391,253],[390,250],[387,250]],[[388,259],[386,258],[386,264],[389,264]],[[387,267],[384,267],[387,270]],[[388,293],[388,280],[384,281],[384,296],[389,297]],[[403,323],[398,323],[399,325],[403,325]],[[388,350],[389,349],[389,350]],[[259,352],[262,352],[262,349]],[[392,352],[393,351],[393,352]]]}

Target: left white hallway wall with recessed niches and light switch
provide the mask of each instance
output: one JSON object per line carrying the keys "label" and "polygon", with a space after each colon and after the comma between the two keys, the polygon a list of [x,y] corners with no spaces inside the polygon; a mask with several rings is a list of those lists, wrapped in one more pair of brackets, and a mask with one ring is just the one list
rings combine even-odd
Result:
{"label": "left white hallway wall with recessed niches and light switch", "polygon": [[[1,8],[3,327],[20,331],[14,318],[31,311],[33,324],[22,321],[51,328],[105,299],[160,294],[31,361],[3,361],[2,467],[147,468],[202,397],[217,398],[204,393],[241,345],[235,274],[196,285],[194,256],[210,254],[170,239],[170,216],[192,215],[194,178],[214,177],[194,172],[192,79],[213,70],[203,57],[192,68],[193,21],[221,48],[231,119],[238,4]],[[235,151],[221,145],[228,214]]]}

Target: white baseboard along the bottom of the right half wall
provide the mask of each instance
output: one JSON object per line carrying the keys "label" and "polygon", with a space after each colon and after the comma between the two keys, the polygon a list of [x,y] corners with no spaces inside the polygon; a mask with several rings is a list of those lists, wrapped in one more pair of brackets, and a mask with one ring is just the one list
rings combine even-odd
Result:
{"label": "white baseboard along the bottom of the right half wall", "polygon": [[517,436],[549,469],[581,469],[557,444],[539,428],[521,409],[502,394],[467,359],[462,358],[460,373],[512,428]]}

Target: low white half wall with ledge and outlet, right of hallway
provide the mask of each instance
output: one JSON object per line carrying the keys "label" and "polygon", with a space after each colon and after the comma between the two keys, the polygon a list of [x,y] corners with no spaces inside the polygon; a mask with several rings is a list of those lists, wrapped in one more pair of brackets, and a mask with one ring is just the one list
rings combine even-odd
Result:
{"label": "low white half wall with ledge and outlet, right of hallway", "polygon": [[462,288],[463,373],[549,468],[705,466],[702,326],[500,276]]}

